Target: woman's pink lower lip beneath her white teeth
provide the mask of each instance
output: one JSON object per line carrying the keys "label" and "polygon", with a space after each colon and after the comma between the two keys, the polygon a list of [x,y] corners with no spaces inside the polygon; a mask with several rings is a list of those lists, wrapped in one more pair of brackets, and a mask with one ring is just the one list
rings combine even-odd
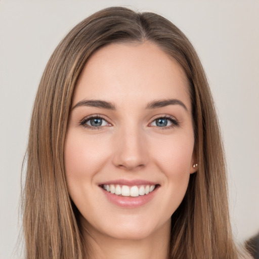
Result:
{"label": "woman's pink lower lip beneath her white teeth", "polygon": [[[100,187],[101,188],[101,187]],[[113,204],[123,207],[123,208],[137,208],[148,203],[156,194],[158,188],[149,194],[139,195],[138,197],[131,196],[118,196],[116,194],[105,191],[101,188],[106,198]]]}

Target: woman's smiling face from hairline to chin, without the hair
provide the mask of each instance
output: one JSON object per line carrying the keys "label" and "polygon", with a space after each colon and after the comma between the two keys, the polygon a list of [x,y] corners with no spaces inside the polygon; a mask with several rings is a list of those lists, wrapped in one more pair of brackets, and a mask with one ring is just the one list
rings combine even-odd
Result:
{"label": "woman's smiling face from hairline to chin, without the hair", "polygon": [[149,42],[94,53],[74,91],[64,151],[69,194],[91,235],[168,231],[193,148],[188,83],[174,59]]}

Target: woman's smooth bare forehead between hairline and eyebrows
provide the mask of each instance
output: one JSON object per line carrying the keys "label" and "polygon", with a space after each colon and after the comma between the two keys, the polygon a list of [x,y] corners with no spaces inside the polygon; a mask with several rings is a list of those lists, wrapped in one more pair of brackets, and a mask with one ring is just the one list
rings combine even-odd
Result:
{"label": "woman's smooth bare forehead between hairline and eyebrows", "polygon": [[[158,46],[110,44],[96,51],[76,84],[73,104],[83,99],[116,103],[180,98],[190,106],[186,75],[180,65]],[[187,107],[188,108],[188,107]]]}

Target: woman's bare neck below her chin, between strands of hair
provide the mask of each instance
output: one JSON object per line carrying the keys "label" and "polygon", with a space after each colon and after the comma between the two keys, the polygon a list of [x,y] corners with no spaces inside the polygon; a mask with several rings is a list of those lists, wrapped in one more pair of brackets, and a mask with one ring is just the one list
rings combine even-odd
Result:
{"label": "woman's bare neck below her chin, between strands of hair", "polygon": [[88,247],[87,258],[98,259],[167,259],[170,222],[142,239],[118,239],[83,227],[83,239]]}

